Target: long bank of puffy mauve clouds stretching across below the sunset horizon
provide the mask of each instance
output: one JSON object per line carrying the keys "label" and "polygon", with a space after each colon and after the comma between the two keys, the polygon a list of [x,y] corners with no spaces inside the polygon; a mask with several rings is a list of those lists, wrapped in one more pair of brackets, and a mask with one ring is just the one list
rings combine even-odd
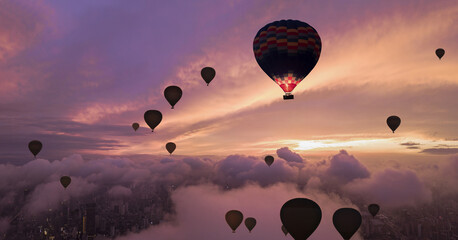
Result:
{"label": "long bank of puffy mauve clouds stretching across below the sunset horizon", "polygon": [[[22,166],[0,164],[3,196],[0,205],[10,206],[22,196],[22,191],[29,189],[31,193],[26,196],[23,210],[39,214],[56,208],[60,201],[93,193],[128,197],[132,186],[145,183],[173,184],[178,188],[217,184],[220,189],[229,185],[235,190],[289,183],[306,192],[334,192],[352,200],[377,201],[389,207],[415,205],[431,198],[431,191],[415,172],[386,169],[369,174],[358,159],[344,150],[328,161],[308,162],[306,167],[292,163],[278,158],[269,167],[262,157],[243,155],[230,155],[222,160],[171,156],[137,161],[128,158],[88,161],[72,155],[61,161],[36,159]],[[455,166],[453,161],[450,164]],[[59,183],[63,175],[72,178],[67,189]]]}

